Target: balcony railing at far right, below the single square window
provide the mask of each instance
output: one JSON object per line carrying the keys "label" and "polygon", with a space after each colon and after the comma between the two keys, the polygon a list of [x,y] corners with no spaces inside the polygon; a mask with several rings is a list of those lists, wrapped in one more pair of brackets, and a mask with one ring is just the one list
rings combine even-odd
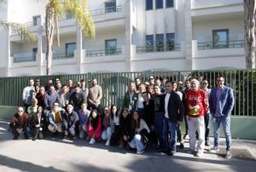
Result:
{"label": "balcony railing at far right, below the single square window", "polygon": [[218,41],[218,43],[197,43],[197,48],[203,49],[238,49],[244,48],[244,40]]}

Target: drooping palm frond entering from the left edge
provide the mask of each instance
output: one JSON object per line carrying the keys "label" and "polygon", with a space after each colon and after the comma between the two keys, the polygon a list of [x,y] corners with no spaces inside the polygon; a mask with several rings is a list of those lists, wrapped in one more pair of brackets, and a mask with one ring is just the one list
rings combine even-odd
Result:
{"label": "drooping palm frond entering from the left edge", "polygon": [[14,22],[6,22],[6,21],[0,20],[0,26],[4,26],[6,28],[13,29],[15,32],[18,33],[21,40],[30,40],[30,41],[37,40],[36,35],[33,34],[32,32],[30,32],[27,29],[27,27],[22,24],[18,24],[18,23],[14,23]]}

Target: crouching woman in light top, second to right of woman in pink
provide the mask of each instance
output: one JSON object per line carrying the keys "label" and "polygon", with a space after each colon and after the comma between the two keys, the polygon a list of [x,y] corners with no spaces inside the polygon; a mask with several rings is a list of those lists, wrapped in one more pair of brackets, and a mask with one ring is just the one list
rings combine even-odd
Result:
{"label": "crouching woman in light top, second to right of woman in pink", "polygon": [[111,138],[110,144],[114,146],[119,143],[120,135],[121,135],[121,129],[120,129],[120,123],[119,123],[119,112],[118,112],[118,107],[116,105],[112,105],[110,107],[110,117],[113,120],[113,124],[114,124],[114,133]]}

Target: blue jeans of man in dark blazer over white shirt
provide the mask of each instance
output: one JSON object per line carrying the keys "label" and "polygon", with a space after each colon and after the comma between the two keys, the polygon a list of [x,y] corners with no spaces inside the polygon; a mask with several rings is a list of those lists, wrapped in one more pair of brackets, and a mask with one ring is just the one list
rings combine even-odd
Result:
{"label": "blue jeans of man in dark blazer over white shirt", "polygon": [[[172,123],[168,118],[164,118],[164,128],[163,128],[163,140],[164,140],[164,150],[176,151],[177,143],[177,123]],[[168,139],[168,134],[170,134],[171,141]],[[171,142],[171,146],[170,143]],[[170,148],[169,148],[170,147]]]}

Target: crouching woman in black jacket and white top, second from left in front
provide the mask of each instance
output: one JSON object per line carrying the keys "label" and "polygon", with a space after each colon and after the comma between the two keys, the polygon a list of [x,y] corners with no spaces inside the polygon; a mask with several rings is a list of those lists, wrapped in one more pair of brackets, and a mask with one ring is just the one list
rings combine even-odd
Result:
{"label": "crouching woman in black jacket and white top, second from left in front", "polygon": [[38,106],[37,112],[33,113],[30,120],[32,129],[32,140],[44,139],[44,132],[46,131],[47,121],[44,115],[43,106]]}

